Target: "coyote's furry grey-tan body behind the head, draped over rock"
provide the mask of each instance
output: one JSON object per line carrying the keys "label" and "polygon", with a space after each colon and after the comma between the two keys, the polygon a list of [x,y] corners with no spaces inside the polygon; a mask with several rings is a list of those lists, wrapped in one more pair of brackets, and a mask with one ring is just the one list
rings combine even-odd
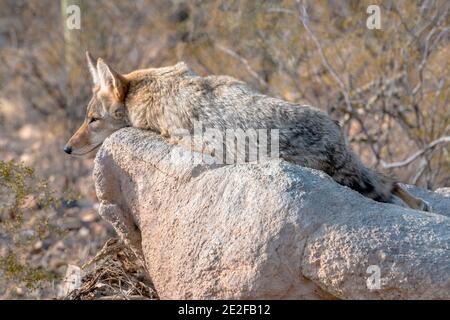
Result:
{"label": "coyote's furry grey-tan body behind the head, draped over rock", "polygon": [[125,107],[131,125],[172,137],[193,122],[225,129],[279,129],[280,156],[319,169],[377,201],[391,201],[393,183],[366,168],[339,125],[322,111],[258,93],[228,76],[200,77],[184,63],[140,70],[129,79]]}

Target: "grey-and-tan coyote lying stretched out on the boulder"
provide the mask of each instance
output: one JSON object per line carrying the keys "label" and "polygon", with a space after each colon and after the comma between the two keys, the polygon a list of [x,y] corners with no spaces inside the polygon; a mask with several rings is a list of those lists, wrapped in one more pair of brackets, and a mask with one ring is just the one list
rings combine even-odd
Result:
{"label": "grey-and-tan coyote lying stretched out on the boulder", "polygon": [[322,170],[373,200],[393,203],[395,195],[413,209],[430,210],[395,181],[365,167],[339,124],[316,108],[268,97],[229,76],[197,76],[183,62],[120,74],[101,58],[94,63],[86,56],[93,97],[66,153],[89,153],[127,126],[152,130],[171,142],[179,141],[180,128],[192,132],[195,121],[221,130],[279,129],[282,159]]}

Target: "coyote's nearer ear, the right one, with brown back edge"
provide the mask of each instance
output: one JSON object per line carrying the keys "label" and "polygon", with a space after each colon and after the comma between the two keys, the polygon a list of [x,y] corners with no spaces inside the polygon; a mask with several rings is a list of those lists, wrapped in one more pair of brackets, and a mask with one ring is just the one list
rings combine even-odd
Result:
{"label": "coyote's nearer ear, the right one, with brown back edge", "polygon": [[112,93],[119,101],[125,99],[128,81],[124,76],[108,66],[101,58],[97,60],[97,72],[101,88],[112,90]]}

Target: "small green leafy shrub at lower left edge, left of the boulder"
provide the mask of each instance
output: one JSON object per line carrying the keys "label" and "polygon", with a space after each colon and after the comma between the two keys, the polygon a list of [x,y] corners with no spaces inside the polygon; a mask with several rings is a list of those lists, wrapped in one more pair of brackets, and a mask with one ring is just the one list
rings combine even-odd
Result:
{"label": "small green leafy shrub at lower left edge, left of the boulder", "polygon": [[[34,169],[0,160],[0,280],[37,289],[56,279],[53,272],[29,261],[30,248],[50,234],[63,233],[49,224],[49,209],[61,200]],[[1,290],[1,289],[0,289]]]}

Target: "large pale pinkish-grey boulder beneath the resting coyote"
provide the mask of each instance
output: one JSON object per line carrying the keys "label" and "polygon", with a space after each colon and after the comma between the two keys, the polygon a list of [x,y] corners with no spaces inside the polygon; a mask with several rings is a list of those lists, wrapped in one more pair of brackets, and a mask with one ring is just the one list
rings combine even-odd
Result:
{"label": "large pale pinkish-grey boulder beneath the resting coyote", "polygon": [[448,189],[410,187],[426,213],[284,161],[188,154],[127,128],[96,158],[100,214],[143,255],[161,298],[450,299]]}

